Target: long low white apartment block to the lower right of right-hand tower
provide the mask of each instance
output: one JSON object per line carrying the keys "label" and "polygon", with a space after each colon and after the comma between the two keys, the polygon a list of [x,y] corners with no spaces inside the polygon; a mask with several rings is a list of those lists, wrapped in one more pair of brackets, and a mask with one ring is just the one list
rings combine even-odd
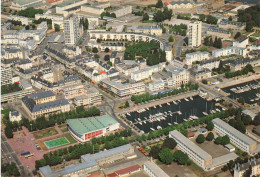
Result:
{"label": "long low white apartment block to the lower right of right-hand tower", "polygon": [[227,47],[222,49],[212,50],[213,57],[229,56],[229,55],[242,55],[245,57],[247,54],[246,48],[241,47]]}

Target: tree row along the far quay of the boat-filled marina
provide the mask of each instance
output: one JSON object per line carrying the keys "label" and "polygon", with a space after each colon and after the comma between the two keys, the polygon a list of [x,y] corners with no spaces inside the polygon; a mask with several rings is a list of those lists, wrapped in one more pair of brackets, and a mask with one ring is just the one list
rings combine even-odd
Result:
{"label": "tree row along the far quay of the boat-filled marina", "polygon": [[191,90],[198,90],[199,85],[198,84],[192,84],[191,82],[187,84],[182,84],[180,89],[174,89],[173,91],[170,91],[168,93],[162,93],[162,94],[156,94],[156,95],[151,95],[150,93],[144,93],[141,95],[132,95],[131,101],[134,101],[135,104],[154,100],[154,99],[161,99],[166,96],[171,96],[171,95],[177,95],[179,93],[191,91]]}

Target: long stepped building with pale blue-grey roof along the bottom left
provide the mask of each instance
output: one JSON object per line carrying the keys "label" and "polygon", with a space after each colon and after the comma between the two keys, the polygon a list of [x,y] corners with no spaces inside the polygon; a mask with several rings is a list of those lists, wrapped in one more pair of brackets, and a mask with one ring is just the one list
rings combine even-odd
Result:
{"label": "long stepped building with pale blue-grey roof along the bottom left", "polygon": [[134,147],[126,144],[96,154],[82,155],[82,163],[77,165],[70,165],[58,171],[53,171],[50,166],[44,166],[39,169],[39,172],[43,177],[88,176],[90,173],[100,170],[102,165],[126,159],[134,154]]}

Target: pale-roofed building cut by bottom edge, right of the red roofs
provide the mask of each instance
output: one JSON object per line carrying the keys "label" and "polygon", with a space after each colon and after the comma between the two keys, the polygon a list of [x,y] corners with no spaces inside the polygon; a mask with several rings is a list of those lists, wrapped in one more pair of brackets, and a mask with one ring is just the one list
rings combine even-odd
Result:
{"label": "pale-roofed building cut by bottom edge, right of the red roofs", "polygon": [[154,162],[145,162],[143,164],[143,169],[145,173],[150,177],[170,177]]}

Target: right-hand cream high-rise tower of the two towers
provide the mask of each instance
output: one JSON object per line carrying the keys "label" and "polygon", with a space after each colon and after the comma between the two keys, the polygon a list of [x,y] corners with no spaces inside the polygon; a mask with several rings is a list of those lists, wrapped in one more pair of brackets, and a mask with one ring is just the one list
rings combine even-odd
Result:
{"label": "right-hand cream high-rise tower of the two towers", "polygon": [[201,45],[201,28],[200,21],[192,21],[188,25],[188,43],[190,47],[199,47]]}

